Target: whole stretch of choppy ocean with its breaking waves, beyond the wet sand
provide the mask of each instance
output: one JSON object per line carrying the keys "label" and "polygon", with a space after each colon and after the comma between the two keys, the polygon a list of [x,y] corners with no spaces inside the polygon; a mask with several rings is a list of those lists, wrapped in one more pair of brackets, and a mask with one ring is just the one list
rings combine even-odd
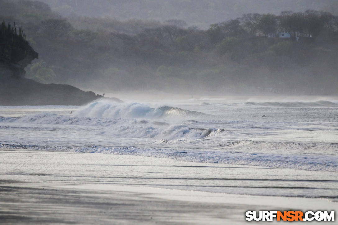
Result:
{"label": "whole stretch of choppy ocean with its breaking waves, beyond the wet sand", "polygon": [[338,195],[334,98],[99,100],[85,106],[0,106],[0,116],[0,148],[323,172],[332,175],[332,196]]}

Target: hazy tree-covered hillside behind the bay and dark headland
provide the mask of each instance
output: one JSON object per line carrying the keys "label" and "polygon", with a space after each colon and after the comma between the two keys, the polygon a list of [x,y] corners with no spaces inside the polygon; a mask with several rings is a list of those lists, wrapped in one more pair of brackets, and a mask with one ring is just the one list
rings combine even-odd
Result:
{"label": "hazy tree-covered hillside behind the bay and dark headland", "polygon": [[254,12],[199,29],[177,18],[66,18],[42,2],[0,0],[0,20],[22,26],[39,52],[26,77],[40,82],[103,92],[338,94],[337,16]]}

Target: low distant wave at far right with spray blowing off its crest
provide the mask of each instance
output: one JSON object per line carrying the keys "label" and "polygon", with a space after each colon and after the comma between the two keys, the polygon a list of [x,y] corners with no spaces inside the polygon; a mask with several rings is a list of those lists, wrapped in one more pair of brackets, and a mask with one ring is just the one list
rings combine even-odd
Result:
{"label": "low distant wave at far right with spray blowing off its crest", "polygon": [[331,101],[315,101],[315,102],[245,102],[249,106],[266,106],[266,107],[338,107],[338,104]]}

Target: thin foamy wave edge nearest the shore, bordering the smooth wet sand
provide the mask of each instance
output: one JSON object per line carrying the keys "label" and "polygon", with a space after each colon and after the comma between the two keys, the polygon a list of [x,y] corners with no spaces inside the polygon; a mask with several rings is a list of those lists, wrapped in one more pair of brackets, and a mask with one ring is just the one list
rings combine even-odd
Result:
{"label": "thin foamy wave edge nearest the shore, bordering the smooth wet sand", "polygon": [[273,153],[244,153],[238,151],[198,151],[167,149],[167,148],[138,148],[134,146],[121,147],[63,147],[63,146],[36,146],[0,144],[0,148],[13,149],[40,149],[49,151],[105,153],[119,155],[139,155],[156,158],[169,158],[180,161],[192,161],[197,163],[221,163],[235,165],[249,165],[260,167],[290,168],[309,171],[338,172],[337,158],[328,161],[325,155],[307,154],[273,154]]}

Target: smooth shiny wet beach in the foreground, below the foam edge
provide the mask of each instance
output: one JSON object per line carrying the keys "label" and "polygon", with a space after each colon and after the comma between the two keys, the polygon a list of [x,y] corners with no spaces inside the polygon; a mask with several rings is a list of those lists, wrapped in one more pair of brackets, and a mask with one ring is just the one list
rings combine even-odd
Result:
{"label": "smooth shiny wet beach in the foreground, below the foam edge", "polygon": [[[330,176],[131,155],[0,149],[0,223],[244,224],[250,223],[244,216],[248,210],[338,209],[338,202],[325,198],[216,193],[229,183],[265,185],[271,181],[252,178],[281,172]],[[208,192],[196,191],[201,187]]]}

